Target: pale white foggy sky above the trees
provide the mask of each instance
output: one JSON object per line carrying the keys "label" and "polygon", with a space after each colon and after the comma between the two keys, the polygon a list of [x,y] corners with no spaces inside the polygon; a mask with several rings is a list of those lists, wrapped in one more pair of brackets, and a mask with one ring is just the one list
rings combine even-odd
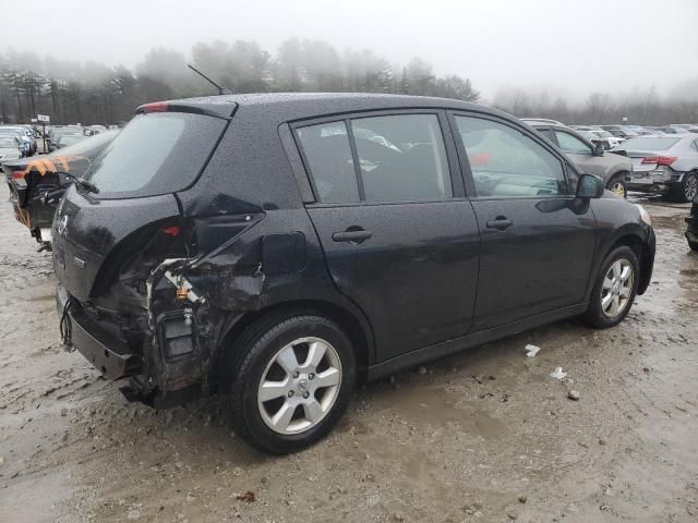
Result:
{"label": "pale white foggy sky above the trees", "polygon": [[0,11],[0,50],[108,65],[133,66],[154,47],[189,56],[213,39],[274,53],[296,36],[399,64],[418,56],[485,98],[513,85],[573,98],[669,93],[698,77],[698,0],[3,0]]}

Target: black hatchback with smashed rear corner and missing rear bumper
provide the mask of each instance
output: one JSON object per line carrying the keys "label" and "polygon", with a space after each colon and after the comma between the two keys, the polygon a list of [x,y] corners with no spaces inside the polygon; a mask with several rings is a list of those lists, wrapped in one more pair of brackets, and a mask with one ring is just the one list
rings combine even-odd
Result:
{"label": "black hatchback with smashed rear corner and missing rear bumper", "polygon": [[65,343],[155,408],[220,392],[255,447],[306,447],[354,384],[648,287],[647,212],[530,127],[455,100],[149,104],[53,221]]}

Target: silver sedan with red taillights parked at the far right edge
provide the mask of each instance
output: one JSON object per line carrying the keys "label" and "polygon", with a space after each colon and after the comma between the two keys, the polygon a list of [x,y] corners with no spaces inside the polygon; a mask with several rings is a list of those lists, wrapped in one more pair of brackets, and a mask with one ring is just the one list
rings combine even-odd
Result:
{"label": "silver sedan with red taillights parked at the far right edge", "polygon": [[633,161],[630,191],[664,194],[691,202],[698,194],[698,136],[638,136],[615,147]]}

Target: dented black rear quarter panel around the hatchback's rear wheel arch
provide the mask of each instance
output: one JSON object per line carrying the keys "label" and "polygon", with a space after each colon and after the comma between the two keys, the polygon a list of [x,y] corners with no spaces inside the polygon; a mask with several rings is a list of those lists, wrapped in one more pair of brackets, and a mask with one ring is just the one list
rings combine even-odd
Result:
{"label": "dented black rear quarter panel around the hatchback's rear wheel arch", "polygon": [[178,193],[183,216],[197,223],[201,256],[186,278],[206,300],[210,329],[218,332],[208,340],[209,350],[230,318],[313,301],[351,314],[369,338],[373,360],[365,315],[337,292],[327,271],[277,132],[278,115],[248,111],[238,109],[197,183]]}

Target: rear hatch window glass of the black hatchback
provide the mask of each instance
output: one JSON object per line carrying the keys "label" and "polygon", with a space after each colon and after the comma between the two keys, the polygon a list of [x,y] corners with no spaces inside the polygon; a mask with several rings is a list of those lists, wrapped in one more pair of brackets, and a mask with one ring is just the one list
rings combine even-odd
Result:
{"label": "rear hatch window glass of the black hatchback", "polygon": [[189,112],[137,114],[85,173],[99,198],[134,198],[191,185],[227,120]]}

